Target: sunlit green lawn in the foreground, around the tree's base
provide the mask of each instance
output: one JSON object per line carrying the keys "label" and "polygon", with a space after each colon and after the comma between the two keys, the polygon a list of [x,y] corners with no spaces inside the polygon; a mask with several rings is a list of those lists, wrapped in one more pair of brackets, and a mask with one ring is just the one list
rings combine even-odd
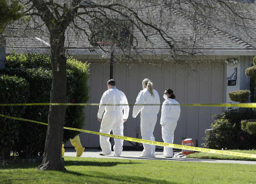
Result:
{"label": "sunlit green lawn in the foreground, around the tree's base", "polygon": [[256,183],[256,165],[64,157],[67,171],[0,165],[0,183]]}

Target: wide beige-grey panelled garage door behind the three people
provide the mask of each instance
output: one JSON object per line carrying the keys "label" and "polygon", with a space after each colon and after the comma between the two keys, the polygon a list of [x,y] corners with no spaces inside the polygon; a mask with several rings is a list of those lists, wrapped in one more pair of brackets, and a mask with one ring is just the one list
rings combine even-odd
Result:
{"label": "wide beige-grey panelled garage door behind the three people", "polygon": [[[109,80],[109,64],[102,61],[92,62],[90,66],[91,77],[90,101],[99,103]],[[123,91],[128,103],[135,103],[137,94],[142,89],[142,80],[149,78],[153,81],[153,88],[159,93],[163,103],[163,93],[166,88],[171,88],[177,96],[180,104],[187,103],[223,103],[224,64],[218,62],[194,62],[193,64],[163,64],[163,63],[138,63],[127,66],[127,63],[119,63],[114,66],[113,78],[117,83],[117,89]],[[225,94],[225,93],[224,93]],[[124,136],[141,138],[140,116],[132,118],[132,109],[127,122],[124,123]],[[99,131],[100,122],[97,120],[97,106],[85,108],[85,128],[91,131]],[[213,122],[212,115],[220,114],[222,107],[186,107],[181,106],[180,119],[175,129],[174,143],[181,144],[181,136],[198,140],[198,146],[204,141],[204,130]],[[156,141],[162,141],[159,111],[154,130]],[[99,147],[99,136],[80,134],[81,143],[85,147]],[[112,144],[113,140],[112,140]],[[135,144],[135,143],[134,143]],[[124,141],[124,145],[132,144]],[[162,147],[159,147],[162,148]]]}

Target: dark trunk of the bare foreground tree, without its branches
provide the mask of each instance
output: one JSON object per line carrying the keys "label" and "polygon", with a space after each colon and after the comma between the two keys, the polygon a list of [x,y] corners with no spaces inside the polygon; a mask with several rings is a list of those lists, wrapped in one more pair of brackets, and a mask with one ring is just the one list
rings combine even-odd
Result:
{"label": "dark trunk of the bare foreground tree, without its branches", "polygon": [[[58,31],[60,30],[60,31]],[[65,56],[65,29],[50,30],[51,63],[53,69],[50,103],[67,103],[67,74]],[[45,152],[38,170],[66,170],[62,163],[61,146],[63,141],[66,106],[50,106]]]}

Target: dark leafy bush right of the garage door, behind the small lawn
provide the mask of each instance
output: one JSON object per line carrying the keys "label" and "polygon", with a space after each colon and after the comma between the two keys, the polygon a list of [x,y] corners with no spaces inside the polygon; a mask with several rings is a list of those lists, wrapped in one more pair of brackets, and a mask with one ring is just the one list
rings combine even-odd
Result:
{"label": "dark leafy bush right of the garage door, behind the small lawn", "polygon": [[241,121],[255,119],[256,113],[247,108],[228,108],[220,115],[214,115],[215,129],[209,139],[203,138],[205,147],[211,149],[254,149],[256,137],[241,129]]}

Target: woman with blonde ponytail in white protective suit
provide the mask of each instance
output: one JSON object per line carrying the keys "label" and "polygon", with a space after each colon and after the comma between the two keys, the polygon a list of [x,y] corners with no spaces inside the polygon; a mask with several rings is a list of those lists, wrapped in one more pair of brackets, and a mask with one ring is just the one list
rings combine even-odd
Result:
{"label": "woman with blonde ponytail in white protective suit", "polygon": [[[153,83],[149,79],[144,79],[142,82],[143,90],[140,91],[136,98],[135,105],[132,111],[132,117],[140,112],[140,131],[141,137],[144,140],[155,141],[153,131],[156,125],[157,114],[160,109],[160,98],[156,90],[153,89]],[[136,105],[144,104],[144,105]],[[158,104],[158,105],[146,105]],[[143,144],[143,151],[139,157],[155,157],[155,145]]]}

